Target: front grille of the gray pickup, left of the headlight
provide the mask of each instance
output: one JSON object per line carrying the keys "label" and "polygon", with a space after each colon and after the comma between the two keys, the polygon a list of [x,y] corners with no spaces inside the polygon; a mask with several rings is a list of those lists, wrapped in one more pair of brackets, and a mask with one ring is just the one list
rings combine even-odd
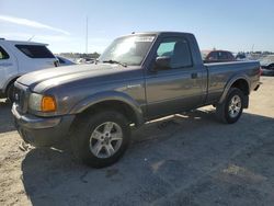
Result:
{"label": "front grille of the gray pickup, left of the headlight", "polygon": [[27,110],[27,89],[26,87],[15,84],[14,87],[14,103],[21,113],[26,113]]}

